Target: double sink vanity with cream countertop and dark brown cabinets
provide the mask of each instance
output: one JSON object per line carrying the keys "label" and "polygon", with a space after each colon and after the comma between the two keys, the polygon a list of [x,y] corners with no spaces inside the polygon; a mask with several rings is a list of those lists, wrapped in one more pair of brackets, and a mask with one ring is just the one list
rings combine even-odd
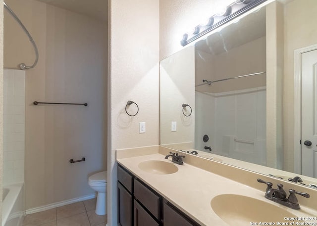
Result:
{"label": "double sink vanity with cream countertop and dark brown cabinets", "polygon": [[[185,156],[183,165],[173,163],[170,152]],[[116,155],[121,226],[317,225],[316,189],[162,146]],[[265,190],[278,198],[277,184],[285,201],[289,189],[310,197],[296,195],[299,210],[265,198]]]}

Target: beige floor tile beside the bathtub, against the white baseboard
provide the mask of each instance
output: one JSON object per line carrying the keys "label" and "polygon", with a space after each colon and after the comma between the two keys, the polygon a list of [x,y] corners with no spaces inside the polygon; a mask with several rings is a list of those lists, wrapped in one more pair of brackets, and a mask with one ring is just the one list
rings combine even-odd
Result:
{"label": "beige floor tile beside the bathtub, against the white baseboard", "polygon": [[55,208],[52,210],[26,215],[23,221],[23,226],[40,226],[53,221],[56,221]]}

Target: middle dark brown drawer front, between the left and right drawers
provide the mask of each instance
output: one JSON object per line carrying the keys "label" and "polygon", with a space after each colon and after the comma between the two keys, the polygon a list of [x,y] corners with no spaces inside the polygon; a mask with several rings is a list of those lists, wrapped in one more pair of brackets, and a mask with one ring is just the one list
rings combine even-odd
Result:
{"label": "middle dark brown drawer front, between the left and right drawers", "polygon": [[153,193],[149,188],[144,186],[140,181],[134,180],[134,197],[142,203],[158,220],[159,213],[159,196]]}

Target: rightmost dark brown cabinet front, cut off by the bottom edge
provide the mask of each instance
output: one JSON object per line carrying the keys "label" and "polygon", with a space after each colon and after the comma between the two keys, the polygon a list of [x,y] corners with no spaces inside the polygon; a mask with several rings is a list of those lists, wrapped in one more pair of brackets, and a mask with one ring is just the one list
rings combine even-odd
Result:
{"label": "rightmost dark brown cabinet front, cut off by the bottom edge", "polygon": [[164,226],[197,226],[194,222],[187,220],[182,214],[180,214],[176,209],[171,207],[169,204],[164,203],[163,206],[163,217]]}

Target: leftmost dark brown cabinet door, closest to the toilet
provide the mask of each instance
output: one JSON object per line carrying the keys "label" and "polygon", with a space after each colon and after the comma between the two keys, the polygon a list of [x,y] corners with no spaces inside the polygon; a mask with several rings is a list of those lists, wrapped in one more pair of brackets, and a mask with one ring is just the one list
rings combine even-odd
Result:
{"label": "leftmost dark brown cabinet door, closest to the toilet", "polygon": [[118,186],[118,225],[132,226],[132,195],[117,182]]}

